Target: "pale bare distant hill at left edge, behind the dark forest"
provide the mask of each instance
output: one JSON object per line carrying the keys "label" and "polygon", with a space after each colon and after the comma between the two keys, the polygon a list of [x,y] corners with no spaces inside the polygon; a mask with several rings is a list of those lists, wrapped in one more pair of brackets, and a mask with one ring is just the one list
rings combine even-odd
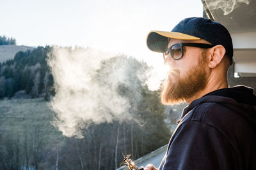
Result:
{"label": "pale bare distant hill at left edge, behind the dark forest", "polygon": [[24,45],[0,45],[0,62],[13,59],[17,52],[25,52],[26,50],[33,50],[35,48]]}

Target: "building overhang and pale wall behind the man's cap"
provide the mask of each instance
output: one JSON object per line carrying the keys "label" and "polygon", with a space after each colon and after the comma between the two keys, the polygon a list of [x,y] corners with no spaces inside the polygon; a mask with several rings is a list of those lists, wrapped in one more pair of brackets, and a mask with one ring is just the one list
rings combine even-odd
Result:
{"label": "building overhang and pale wall behind the man's cap", "polygon": [[231,34],[234,71],[240,76],[256,76],[256,0],[202,0],[202,3],[207,17],[225,25]]}

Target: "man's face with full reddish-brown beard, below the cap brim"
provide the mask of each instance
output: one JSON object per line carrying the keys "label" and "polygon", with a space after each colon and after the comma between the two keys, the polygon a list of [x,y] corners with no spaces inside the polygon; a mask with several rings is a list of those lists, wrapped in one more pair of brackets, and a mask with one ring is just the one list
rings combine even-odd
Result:
{"label": "man's face with full reddish-brown beard, below the cap brim", "polygon": [[[205,43],[204,40],[188,41],[171,39],[168,47],[175,43]],[[184,46],[184,57],[173,60],[170,55],[164,60],[170,66],[168,78],[164,80],[161,101],[163,104],[179,104],[195,96],[207,84],[206,56],[201,48]]]}

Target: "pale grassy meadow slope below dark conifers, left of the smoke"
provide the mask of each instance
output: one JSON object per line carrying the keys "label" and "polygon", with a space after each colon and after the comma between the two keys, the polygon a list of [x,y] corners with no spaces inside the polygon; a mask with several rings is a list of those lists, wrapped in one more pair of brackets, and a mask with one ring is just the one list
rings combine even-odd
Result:
{"label": "pale grassy meadow slope below dark conifers, left of the smoke", "polygon": [[20,132],[22,136],[26,129],[38,127],[50,140],[61,138],[61,132],[50,123],[53,114],[44,98],[3,100],[0,101],[0,131]]}

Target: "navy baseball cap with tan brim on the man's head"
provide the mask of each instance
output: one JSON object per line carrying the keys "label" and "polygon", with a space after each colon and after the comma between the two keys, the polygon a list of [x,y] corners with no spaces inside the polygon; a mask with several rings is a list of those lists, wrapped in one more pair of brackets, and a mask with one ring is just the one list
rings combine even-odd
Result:
{"label": "navy baseball cap with tan brim on the man's head", "polygon": [[172,31],[150,31],[147,36],[147,46],[154,52],[163,53],[168,46],[168,38],[174,39],[204,39],[212,45],[223,45],[226,54],[232,61],[233,44],[228,30],[219,22],[208,18],[185,18]]}

